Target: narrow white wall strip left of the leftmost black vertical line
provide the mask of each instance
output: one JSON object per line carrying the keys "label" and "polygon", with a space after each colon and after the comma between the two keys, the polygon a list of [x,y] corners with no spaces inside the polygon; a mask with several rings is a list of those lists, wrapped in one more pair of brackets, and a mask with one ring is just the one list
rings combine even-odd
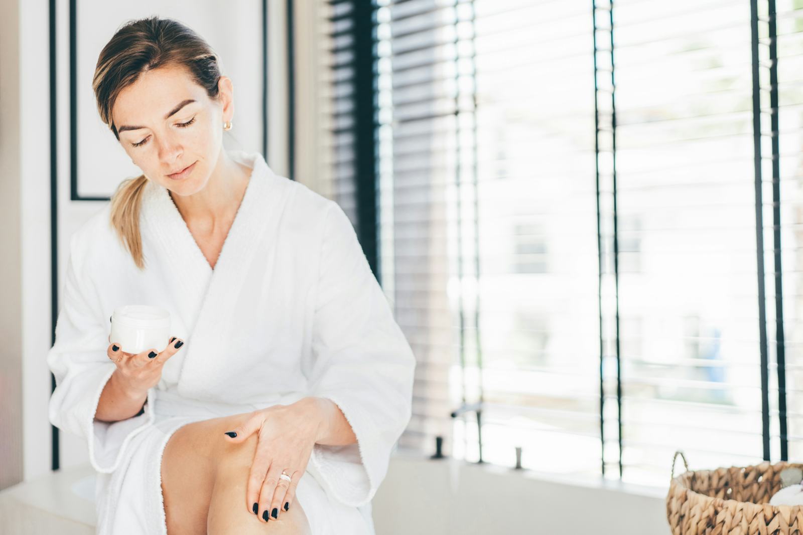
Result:
{"label": "narrow white wall strip left of the leftmost black vertical line", "polygon": [[18,310],[22,335],[21,445],[22,475],[27,478],[47,472],[51,460],[51,424],[47,421],[51,379],[44,367],[44,355],[51,347],[50,75],[47,3],[20,1],[18,6],[16,104],[20,120],[18,124],[5,124],[3,131],[18,136],[14,155],[18,173],[6,176],[6,180],[15,180],[19,186],[22,249],[20,256],[10,258],[19,263],[22,273]]}

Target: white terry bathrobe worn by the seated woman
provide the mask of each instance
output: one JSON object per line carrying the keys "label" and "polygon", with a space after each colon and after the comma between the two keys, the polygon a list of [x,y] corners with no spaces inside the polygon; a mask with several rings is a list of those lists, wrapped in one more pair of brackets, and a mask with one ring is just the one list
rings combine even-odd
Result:
{"label": "white terry bathrobe worn by the seated woman", "polygon": [[[331,399],[357,444],[316,444],[296,496],[315,535],[374,533],[371,499],[410,421],[414,355],[340,206],[276,175],[259,152],[230,155],[253,171],[214,270],[153,181],[141,205],[145,270],[109,224],[109,203],[73,234],[47,354],[57,385],[50,421],[88,440],[97,533],[166,534],[161,454],[177,428]],[[169,310],[185,346],[148,391],[144,414],[97,422],[116,369],[109,318],[129,304]]]}

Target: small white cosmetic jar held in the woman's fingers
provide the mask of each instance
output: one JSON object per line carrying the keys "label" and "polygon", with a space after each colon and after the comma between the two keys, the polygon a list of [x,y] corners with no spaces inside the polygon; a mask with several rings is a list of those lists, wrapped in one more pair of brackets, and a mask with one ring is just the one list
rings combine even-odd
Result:
{"label": "small white cosmetic jar held in the woman's fingers", "polygon": [[133,355],[147,349],[162,351],[170,338],[170,313],[158,306],[118,306],[112,314],[110,338]]}

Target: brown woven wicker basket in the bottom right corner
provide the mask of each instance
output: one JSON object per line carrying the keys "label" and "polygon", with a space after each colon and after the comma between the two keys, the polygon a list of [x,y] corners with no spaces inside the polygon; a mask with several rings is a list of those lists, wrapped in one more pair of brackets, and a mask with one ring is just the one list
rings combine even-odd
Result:
{"label": "brown woven wicker basket in the bottom right corner", "polygon": [[[686,472],[675,476],[675,461],[683,458]],[[666,495],[666,519],[675,535],[803,535],[803,506],[769,505],[781,489],[781,471],[803,464],[768,461],[746,466],[689,471],[682,452],[672,460],[672,480]]]}

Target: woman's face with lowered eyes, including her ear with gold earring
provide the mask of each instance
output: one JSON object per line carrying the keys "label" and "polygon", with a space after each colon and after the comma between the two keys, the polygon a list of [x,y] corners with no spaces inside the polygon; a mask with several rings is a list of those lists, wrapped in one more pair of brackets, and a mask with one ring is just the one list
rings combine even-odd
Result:
{"label": "woman's face with lowered eyes, including her ear with gold earring", "polygon": [[[234,113],[230,79],[222,76],[218,87],[220,98],[212,100],[184,67],[160,67],[120,92],[112,121],[149,180],[182,196],[206,186],[221,152],[223,123]],[[170,176],[190,166],[183,176]]]}

